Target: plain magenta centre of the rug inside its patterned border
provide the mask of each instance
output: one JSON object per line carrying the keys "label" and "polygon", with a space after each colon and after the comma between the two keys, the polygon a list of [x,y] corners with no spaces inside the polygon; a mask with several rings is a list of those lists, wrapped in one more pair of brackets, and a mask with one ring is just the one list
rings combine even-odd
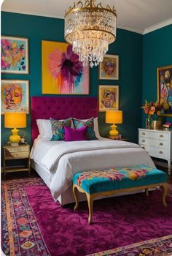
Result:
{"label": "plain magenta centre of the rug inside its patterned border", "polygon": [[93,224],[87,202],[62,208],[47,186],[26,187],[42,236],[51,256],[84,256],[172,233],[172,197],[163,208],[163,192],[95,200]]}

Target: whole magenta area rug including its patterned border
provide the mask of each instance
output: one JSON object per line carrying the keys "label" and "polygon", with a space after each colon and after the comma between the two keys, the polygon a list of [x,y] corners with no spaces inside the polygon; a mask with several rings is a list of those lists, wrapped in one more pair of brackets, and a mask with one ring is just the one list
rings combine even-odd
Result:
{"label": "whole magenta area rug including its patterned border", "polygon": [[167,203],[164,209],[159,190],[148,198],[143,193],[97,200],[88,225],[87,203],[79,211],[62,208],[41,178],[3,181],[1,248],[10,256],[172,255],[171,197]]}

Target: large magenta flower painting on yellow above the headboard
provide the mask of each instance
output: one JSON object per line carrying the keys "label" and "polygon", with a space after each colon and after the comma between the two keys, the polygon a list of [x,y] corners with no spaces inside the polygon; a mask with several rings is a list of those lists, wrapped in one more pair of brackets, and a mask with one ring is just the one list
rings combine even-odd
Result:
{"label": "large magenta flower painting on yellow above the headboard", "polygon": [[42,41],[42,94],[89,94],[89,70],[68,43]]}

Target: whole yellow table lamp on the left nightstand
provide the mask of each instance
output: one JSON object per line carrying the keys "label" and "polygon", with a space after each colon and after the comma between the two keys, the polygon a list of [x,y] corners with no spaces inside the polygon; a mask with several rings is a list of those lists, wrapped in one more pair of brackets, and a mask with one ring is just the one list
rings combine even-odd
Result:
{"label": "whole yellow table lamp on the left nightstand", "polygon": [[9,141],[12,146],[17,146],[20,142],[20,135],[18,135],[17,128],[26,127],[26,113],[20,112],[7,112],[4,113],[4,127],[12,129],[12,135],[9,136]]}

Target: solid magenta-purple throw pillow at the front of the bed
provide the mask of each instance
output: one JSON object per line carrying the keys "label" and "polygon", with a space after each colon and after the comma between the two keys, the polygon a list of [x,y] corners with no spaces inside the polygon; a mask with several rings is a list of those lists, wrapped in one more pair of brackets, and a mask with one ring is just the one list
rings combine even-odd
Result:
{"label": "solid magenta-purple throw pillow at the front of the bed", "polygon": [[81,127],[78,129],[64,127],[64,129],[65,141],[87,140],[87,127]]}

